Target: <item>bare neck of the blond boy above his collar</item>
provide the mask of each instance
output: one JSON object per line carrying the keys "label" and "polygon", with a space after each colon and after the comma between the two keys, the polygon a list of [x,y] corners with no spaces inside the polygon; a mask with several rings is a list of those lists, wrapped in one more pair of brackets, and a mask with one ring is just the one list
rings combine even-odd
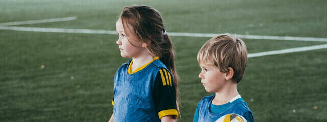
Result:
{"label": "bare neck of the blond boy above his collar", "polygon": [[[233,81],[230,81],[233,82]],[[228,103],[235,96],[239,95],[236,83],[226,85],[223,89],[216,92],[215,98],[212,100],[214,105],[222,105]]]}

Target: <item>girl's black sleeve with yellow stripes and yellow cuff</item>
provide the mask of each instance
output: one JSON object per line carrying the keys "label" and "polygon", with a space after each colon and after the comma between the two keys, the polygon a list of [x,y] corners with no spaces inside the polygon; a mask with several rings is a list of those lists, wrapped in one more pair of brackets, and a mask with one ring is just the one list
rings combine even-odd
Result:
{"label": "girl's black sleeve with yellow stripes and yellow cuff", "polygon": [[157,73],[152,97],[159,118],[174,115],[177,119],[176,92],[172,75],[166,69],[160,69]]}

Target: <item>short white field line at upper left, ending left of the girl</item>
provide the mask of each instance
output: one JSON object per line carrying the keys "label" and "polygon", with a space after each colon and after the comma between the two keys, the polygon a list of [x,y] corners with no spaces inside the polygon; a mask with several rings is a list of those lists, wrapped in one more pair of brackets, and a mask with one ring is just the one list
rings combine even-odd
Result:
{"label": "short white field line at upper left, ending left of the girl", "polygon": [[48,22],[60,22],[60,21],[71,21],[76,20],[77,17],[64,17],[64,18],[52,18],[52,19],[41,19],[41,20],[30,20],[30,21],[17,21],[0,23],[0,26],[12,26],[12,25],[23,25],[23,24],[39,24]]}

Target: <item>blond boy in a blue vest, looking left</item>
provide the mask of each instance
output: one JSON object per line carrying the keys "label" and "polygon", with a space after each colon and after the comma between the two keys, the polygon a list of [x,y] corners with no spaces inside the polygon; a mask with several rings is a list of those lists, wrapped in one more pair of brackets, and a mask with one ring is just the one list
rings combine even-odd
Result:
{"label": "blond boy in a blue vest, looking left", "polygon": [[229,113],[254,121],[252,111],[236,88],[246,67],[245,43],[229,34],[218,35],[202,46],[197,59],[202,69],[201,83],[207,92],[215,94],[199,101],[193,121],[216,121]]}

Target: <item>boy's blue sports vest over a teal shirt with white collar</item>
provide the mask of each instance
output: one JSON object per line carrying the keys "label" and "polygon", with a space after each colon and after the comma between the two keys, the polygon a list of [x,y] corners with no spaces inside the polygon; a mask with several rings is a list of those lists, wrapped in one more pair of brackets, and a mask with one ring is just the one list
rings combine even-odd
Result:
{"label": "boy's blue sports vest over a teal shirt with white collar", "polygon": [[229,113],[242,115],[248,122],[254,121],[252,111],[240,95],[233,98],[230,102],[219,106],[211,103],[214,97],[215,94],[206,96],[199,101],[194,113],[193,122],[216,121],[220,117]]}

